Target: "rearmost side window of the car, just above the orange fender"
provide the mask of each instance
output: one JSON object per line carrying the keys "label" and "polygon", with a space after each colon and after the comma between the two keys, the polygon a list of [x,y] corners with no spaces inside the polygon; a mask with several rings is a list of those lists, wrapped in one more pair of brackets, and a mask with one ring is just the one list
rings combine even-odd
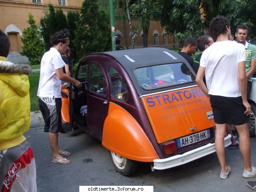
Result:
{"label": "rearmost side window of the car, just above the orange fender", "polygon": [[111,82],[111,96],[118,100],[127,101],[127,87],[121,74],[112,66],[109,68],[108,74]]}

